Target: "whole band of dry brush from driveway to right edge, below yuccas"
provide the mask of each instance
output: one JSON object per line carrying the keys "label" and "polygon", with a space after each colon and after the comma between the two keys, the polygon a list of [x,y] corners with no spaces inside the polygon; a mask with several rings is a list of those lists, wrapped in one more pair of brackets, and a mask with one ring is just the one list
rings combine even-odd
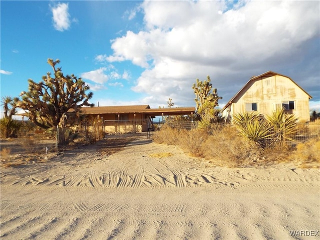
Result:
{"label": "whole band of dry brush from driveway to right edge, below yuccas", "polygon": [[286,145],[261,149],[239,136],[232,126],[208,134],[198,128],[191,131],[164,125],[154,133],[153,140],[178,145],[193,156],[204,157],[219,166],[259,166],[278,162],[295,162],[301,167],[320,166],[320,137],[297,144],[295,150]]}

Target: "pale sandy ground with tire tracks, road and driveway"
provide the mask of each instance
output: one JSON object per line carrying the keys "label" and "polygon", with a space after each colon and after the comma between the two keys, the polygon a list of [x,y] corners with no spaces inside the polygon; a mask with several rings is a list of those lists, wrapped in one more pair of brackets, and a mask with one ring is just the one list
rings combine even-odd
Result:
{"label": "pale sandy ground with tire tracks, road and driveway", "polygon": [[126,140],[2,163],[1,240],[320,239],[319,169],[217,167]]}

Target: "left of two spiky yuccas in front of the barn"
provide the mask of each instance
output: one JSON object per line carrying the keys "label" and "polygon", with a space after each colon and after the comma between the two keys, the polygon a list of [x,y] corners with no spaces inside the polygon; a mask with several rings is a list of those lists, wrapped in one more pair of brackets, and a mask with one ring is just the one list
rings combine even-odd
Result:
{"label": "left of two spiky yuccas in front of the barn", "polygon": [[255,112],[244,112],[235,114],[232,122],[239,134],[258,148],[265,148],[272,142],[272,131],[270,124]]}

